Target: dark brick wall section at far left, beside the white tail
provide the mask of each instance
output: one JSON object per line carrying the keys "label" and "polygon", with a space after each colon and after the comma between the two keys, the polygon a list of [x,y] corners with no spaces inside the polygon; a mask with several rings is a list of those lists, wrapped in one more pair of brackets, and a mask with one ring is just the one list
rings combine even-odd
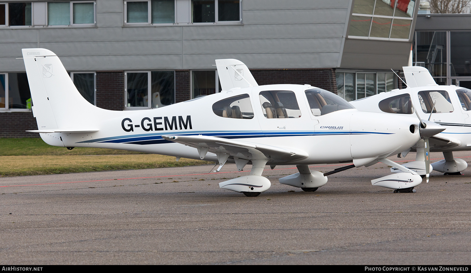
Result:
{"label": "dark brick wall section at far left, beside the white tail", "polygon": [[36,118],[32,112],[0,113],[0,137],[2,138],[39,138]]}

